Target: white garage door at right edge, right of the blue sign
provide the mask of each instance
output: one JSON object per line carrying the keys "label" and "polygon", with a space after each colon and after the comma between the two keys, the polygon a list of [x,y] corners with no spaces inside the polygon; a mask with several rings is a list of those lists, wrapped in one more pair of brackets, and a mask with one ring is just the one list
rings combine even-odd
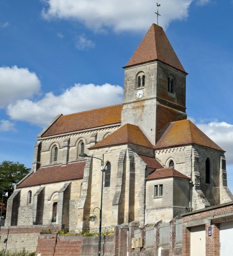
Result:
{"label": "white garage door at right edge, right of the blue sign", "polygon": [[233,255],[233,221],[220,224],[220,256]]}

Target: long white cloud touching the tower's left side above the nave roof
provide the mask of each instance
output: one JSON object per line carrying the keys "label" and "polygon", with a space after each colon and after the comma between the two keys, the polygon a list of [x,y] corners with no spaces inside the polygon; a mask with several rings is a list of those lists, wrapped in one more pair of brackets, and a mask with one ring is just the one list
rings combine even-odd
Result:
{"label": "long white cloud touching the tower's left side above the nave roof", "polygon": [[7,114],[11,119],[43,127],[59,113],[66,115],[119,104],[123,101],[123,92],[118,85],[75,84],[58,96],[50,92],[37,102],[19,100],[7,107]]}

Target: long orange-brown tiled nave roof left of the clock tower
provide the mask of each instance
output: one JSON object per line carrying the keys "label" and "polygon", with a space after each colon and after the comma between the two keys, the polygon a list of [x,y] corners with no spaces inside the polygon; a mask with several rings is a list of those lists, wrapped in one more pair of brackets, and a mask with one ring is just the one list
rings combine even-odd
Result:
{"label": "long orange-brown tiled nave roof left of the clock tower", "polygon": [[59,117],[41,137],[121,122],[122,104]]}

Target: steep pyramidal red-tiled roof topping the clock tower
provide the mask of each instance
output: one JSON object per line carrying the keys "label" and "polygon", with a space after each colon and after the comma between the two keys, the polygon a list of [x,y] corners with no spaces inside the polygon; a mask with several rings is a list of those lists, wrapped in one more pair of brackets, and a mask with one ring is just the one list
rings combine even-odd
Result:
{"label": "steep pyramidal red-tiled roof topping the clock tower", "polygon": [[160,60],[185,72],[163,28],[154,23],[125,67],[151,60]]}

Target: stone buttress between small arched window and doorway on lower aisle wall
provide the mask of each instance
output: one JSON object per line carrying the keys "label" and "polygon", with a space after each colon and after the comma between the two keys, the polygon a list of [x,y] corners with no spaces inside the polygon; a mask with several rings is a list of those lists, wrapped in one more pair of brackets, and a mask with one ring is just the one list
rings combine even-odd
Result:
{"label": "stone buttress between small arched window and doorway on lower aisle wall", "polygon": [[33,195],[32,201],[32,224],[43,224],[45,187],[40,187]]}

